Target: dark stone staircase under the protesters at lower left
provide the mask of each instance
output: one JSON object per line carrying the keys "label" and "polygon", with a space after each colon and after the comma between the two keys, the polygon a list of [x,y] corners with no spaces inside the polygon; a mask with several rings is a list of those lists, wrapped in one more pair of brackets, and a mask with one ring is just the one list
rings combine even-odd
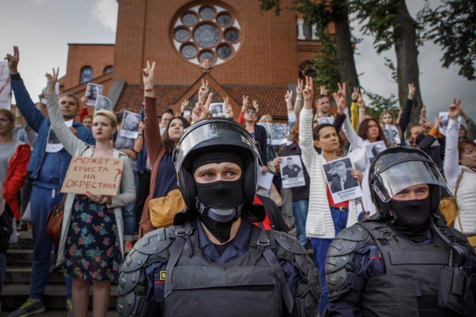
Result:
{"label": "dark stone staircase under the protesters at lower left", "polygon": [[[17,243],[10,244],[6,254],[6,275],[2,294],[0,295],[0,317],[8,316],[7,312],[20,307],[29,296],[31,278],[31,259],[33,255],[33,238],[31,230],[21,231]],[[52,261],[48,286],[43,301],[47,311],[41,316],[66,316],[66,286],[62,269],[54,269],[55,255],[52,252]],[[117,285],[111,288],[110,312],[108,316],[117,316]],[[92,288],[90,291],[89,308],[92,309]]]}

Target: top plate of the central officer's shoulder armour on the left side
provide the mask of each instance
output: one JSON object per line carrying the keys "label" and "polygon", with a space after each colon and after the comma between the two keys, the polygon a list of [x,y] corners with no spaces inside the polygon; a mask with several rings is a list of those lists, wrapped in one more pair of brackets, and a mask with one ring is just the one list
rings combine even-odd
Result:
{"label": "top plate of the central officer's shoulder armour on the left side", "polygon": [[134,249],[147,254],[157,254],[167,249],[175,238],[175,228],[159,228],[147,233],[134,244]]}

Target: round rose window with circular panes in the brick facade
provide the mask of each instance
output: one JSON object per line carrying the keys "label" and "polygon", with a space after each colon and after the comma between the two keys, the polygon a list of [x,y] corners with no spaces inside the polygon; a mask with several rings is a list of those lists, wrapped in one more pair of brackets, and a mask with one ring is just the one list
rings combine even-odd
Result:
{"label": "round rose window with circular panes in the brick facade", "polygon": [[242,46],[243,23],[226,4],[182,8],[173,20],[172,42],[187,61],[200,64],[208,58],[220,65],[237,55]]}

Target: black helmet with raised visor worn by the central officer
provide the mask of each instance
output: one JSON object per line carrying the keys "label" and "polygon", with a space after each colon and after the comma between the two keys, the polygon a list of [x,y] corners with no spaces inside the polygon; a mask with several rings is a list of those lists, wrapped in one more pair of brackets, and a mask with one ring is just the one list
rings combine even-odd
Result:
{"label": "black helmet with raised visor worn by the central officer", "polygon": [[206,152],[233,152],[243,159],[243,196],[253,221],[263,221],[266,211],[253,205],[258,187],[258,143],[238,122],[226,118],[208,118],[188,127],[177,147],[173,161],[177,171],[179,190],[186,209],[176,213],[174,224],[180,224],[197,213],[195,179],[192,174],[193,159]]}

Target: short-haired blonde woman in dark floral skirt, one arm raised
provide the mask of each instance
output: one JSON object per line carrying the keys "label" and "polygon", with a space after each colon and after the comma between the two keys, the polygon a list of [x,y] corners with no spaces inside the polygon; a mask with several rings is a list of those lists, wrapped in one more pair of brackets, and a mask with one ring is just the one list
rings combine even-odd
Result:
{"label": "short-haired blonde woman in dark floral skirt, one arm raised", "polygon": [[51,126],[71,156],[124,159],[117,196],[102,196],[86,191],[67,194],[64,201],[57,265],[64,264],[64,275],[72,277],[75,317],[88,313],[89,286],[93,284],[93,316],[106,316],[111,297],[111,282],[118,282],[123,261],[121,207],[135,199],[134,174],[127,156],[113,149],[110,139],[117,120],[111,111],[94,114],[92,132],[96,146],[79,140],[64,124],[55,94],[58,72],[46,74],[47,107]]}

